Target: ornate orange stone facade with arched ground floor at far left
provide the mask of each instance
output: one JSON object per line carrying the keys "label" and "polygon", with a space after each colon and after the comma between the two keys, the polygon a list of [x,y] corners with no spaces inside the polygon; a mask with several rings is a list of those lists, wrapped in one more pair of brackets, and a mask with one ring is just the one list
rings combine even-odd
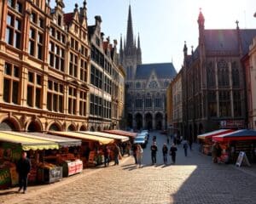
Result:
{"label": "ornate orange stone facade with arched ground floor at far left", "polygon": [[0,2],[0,123],[16,131],[87,129],[86,3]]}

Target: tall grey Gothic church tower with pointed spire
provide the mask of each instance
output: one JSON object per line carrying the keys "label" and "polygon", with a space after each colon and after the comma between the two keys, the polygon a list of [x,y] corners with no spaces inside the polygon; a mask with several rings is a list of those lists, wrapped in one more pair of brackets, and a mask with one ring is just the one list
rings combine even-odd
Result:
{"label": "tall grey Gothic church tower with pointed spire", "polygon": [[133,37],[131,5],[129,5],[126,40],[124,41],[123,46],[123,40],[121,37],[119,54],[121,64],[124,66],[126,71],[126,81],[134,80],[137,71],[137,65],[142,64],[142,51],[140,48],[140,38],[138,37],[136,45],[136,41]]}

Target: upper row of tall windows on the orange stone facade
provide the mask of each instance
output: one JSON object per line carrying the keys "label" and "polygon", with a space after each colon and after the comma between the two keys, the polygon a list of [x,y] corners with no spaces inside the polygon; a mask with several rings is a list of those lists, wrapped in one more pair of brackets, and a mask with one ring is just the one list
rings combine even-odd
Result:
{"label": "upper row of tall windows on the orange stone facade", "polygon": [[[9,1],[11,7],[20,5],[19,1]],[[22,5],[22,4],[21,4]],[[18,6],[20,8],[20,6]],[[31,26],[29,30],[28,54],[37,59],[44,59],[44,19],[32,11]],[[38,29],[39,27],[39,29]],[[5,33],[5,41],[15,48],[21,48],[22,42],[22,20],[17,14],[11,12],[7,15],[7,27]],[[49,42],[49,65],[58,71],[65,71],[65,57],[66,57],[66,37],[61,31],[56,30],[54,27],[50,28],[51,37],[60,42]],[[63,46],[61,46],[63,44]],[[71,39],[71,45],[76,50],[79,50],[79,42]],[[81,45],[81,53],[84,56],[88,55],[88,50]],[[69,75],[73,77],[80,77],[80,80],[87,82],[87,63],[84,59],[80,59],[80,76],[78,76],[79,57],[77,54],[70,53],[69,59]]]}

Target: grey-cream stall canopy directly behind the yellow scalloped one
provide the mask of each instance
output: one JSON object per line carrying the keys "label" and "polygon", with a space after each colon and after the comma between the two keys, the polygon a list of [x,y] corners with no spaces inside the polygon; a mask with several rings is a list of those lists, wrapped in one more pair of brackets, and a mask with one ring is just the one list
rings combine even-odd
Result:
{"label": "grey-cream stall canopy directly behind the yellow scalloped one", "polygon": [[15,135],[23,136],[32,139],[44,139],[59,144],[61,147],[80,146],[82,144],[81,139],[70,139],[60,136],[55,136],[46,133],[27,133],[27,132],[12,132]]}

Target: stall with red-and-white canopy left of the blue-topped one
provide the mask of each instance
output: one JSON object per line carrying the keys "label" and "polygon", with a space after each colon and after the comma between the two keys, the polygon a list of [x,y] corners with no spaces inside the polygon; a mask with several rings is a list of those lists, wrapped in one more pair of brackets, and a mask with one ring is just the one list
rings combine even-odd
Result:
{"label": "stall with red-and-white canopy left of the blue-topped one", "polygon": [[234,130],[232,129],[219,129],[209,133],[197,135],[197,139],[199,139],[199,143],[201,144],[201,151],[206,155],[211,155],[213,144],[212,137],[223,133],[231,133],[233,131]]}

